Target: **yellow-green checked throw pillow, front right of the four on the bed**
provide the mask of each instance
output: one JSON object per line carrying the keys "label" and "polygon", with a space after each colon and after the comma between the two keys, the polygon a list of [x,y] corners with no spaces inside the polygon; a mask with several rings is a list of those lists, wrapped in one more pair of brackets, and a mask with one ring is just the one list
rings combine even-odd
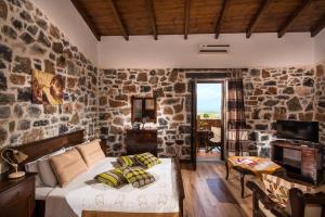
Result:
{"label": "yellow-green checked throw pillow, front right of the four on the bed", "polygon": [[141,188],[155,181],[155,177],[144,169],[125,167],[122,169],[125,178],[134,188]]}

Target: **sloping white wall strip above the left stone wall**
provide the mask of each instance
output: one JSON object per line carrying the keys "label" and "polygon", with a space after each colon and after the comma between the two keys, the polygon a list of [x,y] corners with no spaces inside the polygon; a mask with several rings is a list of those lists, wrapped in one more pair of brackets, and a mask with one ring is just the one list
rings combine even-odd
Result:
{"label": "sloping white wall strip above the left stone wall", "polygon": [[98,41],[69,0],[32,0],[61,31],[94,64],[98,63]]}

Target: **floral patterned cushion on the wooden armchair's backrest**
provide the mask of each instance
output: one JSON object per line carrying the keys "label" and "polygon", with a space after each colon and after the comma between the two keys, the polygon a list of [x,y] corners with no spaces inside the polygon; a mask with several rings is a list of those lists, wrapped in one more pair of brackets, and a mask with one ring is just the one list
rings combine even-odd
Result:
{"label": "floral patterned cushion on the wooden armchair's backrest", "polygon": [[287,205],[289,189],[297,188],[302,192],[313,192],[313,189],[308,186],[290,182],[272,175],[262,174],[262,181],[268,196],[283,207]]}

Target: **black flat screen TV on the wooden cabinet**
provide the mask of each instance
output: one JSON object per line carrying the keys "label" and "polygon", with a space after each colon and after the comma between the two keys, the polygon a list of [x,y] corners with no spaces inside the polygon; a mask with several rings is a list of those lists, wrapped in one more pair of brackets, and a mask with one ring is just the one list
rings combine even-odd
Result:
{"label": "black flat screen TV on the wooden cabinet", "polygon": [[277,120],[275,129],[280,139],[318,142],[317,122]]}

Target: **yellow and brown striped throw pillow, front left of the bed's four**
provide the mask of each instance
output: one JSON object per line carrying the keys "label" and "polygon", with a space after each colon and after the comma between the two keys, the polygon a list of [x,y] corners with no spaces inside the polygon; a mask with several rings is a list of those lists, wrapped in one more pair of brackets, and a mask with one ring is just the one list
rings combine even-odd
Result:
{"label": "yellow and brown striped throw pillow, front left of the bed's four", "polygon": [[99,174],[95,176],[95,179],[113,188],[120,188],[128,183],[128,180],[123,177],[123,174],[119,168]]}

